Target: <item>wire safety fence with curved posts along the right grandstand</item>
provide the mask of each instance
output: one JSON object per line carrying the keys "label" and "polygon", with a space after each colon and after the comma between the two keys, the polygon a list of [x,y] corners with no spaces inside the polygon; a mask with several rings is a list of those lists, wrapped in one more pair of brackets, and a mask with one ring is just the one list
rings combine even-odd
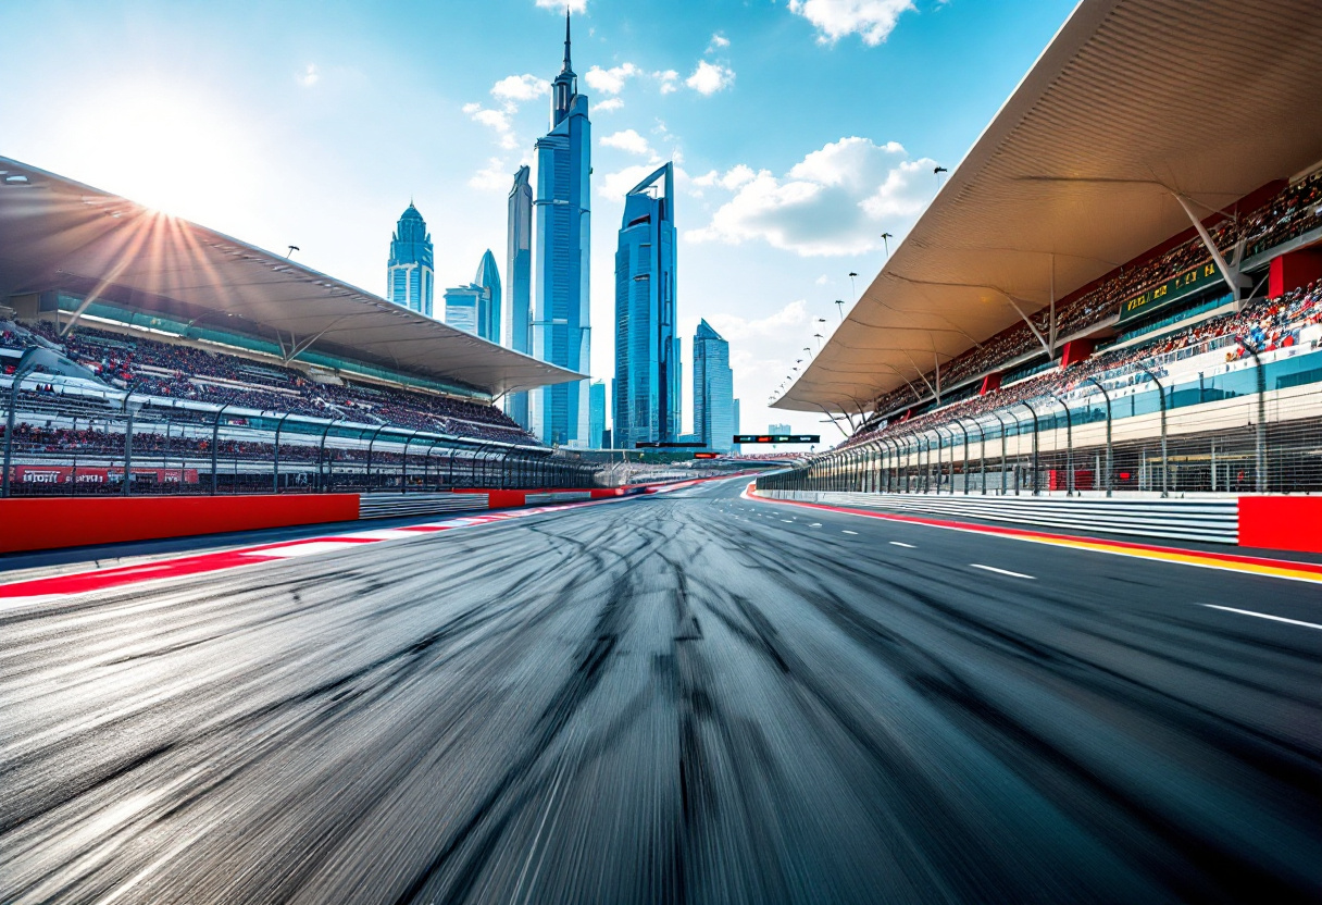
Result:
{"label": "wire safety fence with curved posts along the right grandstand", "polygon": [[[1068,496],[1322,491],[1322,348],[1224,343],[891,423],[767,490]],[[1013,400],[1013,401],[1011,401]],[[953,406],[952,406],[953,408]]]}

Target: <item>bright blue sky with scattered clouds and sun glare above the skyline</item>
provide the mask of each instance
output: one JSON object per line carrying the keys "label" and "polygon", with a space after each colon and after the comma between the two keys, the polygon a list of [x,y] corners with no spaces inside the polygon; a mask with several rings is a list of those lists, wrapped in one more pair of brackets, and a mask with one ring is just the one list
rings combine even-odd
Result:
{"label": "bright blue sky with scattered clouds and sun glare above the skyline", "polygon": [[[744,430],[830,437],[768,396],[1075,0],[571,3],[594,124],[594,376],[613,373],[620,198],[674,159],[685,359],[706,318],[731,341]],[[563,11],[7,0],[0,155],[267,249],[299,245],[304,263],[374,292],[412,197],[438,284],[464,283],[488,247],[504,266],[505,196],[547,127]]]}

